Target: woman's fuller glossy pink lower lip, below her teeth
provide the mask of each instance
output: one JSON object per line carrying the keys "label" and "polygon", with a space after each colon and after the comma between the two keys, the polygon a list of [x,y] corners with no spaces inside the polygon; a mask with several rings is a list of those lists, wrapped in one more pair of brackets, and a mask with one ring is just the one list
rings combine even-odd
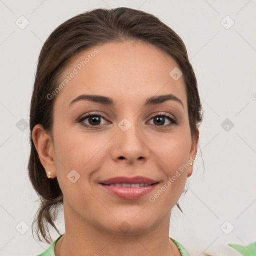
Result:
{"label": "woman's fuller glossy pink lower lip, below her teeth", "polygon": [[147,193],[151,192],[155,186],[157,186],[158,183],[154,183],[152,185],[148,186],[139,186],[139,187],[120,187],[120,186],[109,186],[109,185],[103,185],[99,184],[102,186],[106,191],[109,193],[118,196],[122,199],[137,199],[140,198]]}

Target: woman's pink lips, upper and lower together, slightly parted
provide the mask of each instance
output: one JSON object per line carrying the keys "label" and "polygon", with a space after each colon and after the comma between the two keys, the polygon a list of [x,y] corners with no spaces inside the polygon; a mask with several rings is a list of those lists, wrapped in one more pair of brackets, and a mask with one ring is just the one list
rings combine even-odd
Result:
{"label": "woman's pink lips, upper and lower together, slightly parted", "polygon": [[[111,183],[128,183],[128,184],[148,183],[148,185],[141,186],[141,187],[120,187],[120,186],[108,185]],[[105,189],[105,191],[107,191],[112,195],[115,195],[122,199],[134,200],[151,192],[158,185],[158,181],[153,180],[151,178],[143,177],[143,176],[135,176],[135,177],[118,176],[118,177],[113,177],[113,178],[99,181],[98,184],[103,189]]]}

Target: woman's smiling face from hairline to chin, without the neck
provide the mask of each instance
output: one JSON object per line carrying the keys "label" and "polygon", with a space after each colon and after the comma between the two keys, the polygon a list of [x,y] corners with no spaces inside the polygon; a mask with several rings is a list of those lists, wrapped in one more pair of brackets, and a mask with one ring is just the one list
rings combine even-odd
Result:
{"label": "woman's smiling face from hairline to chin, without the neck", "polygon": [[[142,232],[169,217],[197,147],[179,75],[173,58],[145,43],[105,43],[75,56],[59,80],[64,86],[52,93],[55,157],[47,166],[57,176],[66,216],[113,233]],[[157,183],[105,181],[117,176]],[[130,183],[144,187],[125,187]]]}

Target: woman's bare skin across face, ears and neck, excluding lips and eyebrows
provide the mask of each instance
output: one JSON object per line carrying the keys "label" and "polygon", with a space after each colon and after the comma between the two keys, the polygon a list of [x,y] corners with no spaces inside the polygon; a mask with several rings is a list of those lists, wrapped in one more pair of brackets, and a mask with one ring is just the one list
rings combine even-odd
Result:
{"label": "woman's bare skin across face, ears and neck, excluding lips and eyebrows", "polygon": [[[170,214],[193,167],[184,169],[154,202],[148,197],[196,154],[198,140],[190,133],[183,77],[172,79],[169,72],[178,65],[157,47],[125,41],[83,50],[60,82],[95,48],[99,52],[55,96],[52,132],[40,124],[32,132],[42,165],[51,178],[57,176],[63,192],[65,234],[55,245],[55,255],[180,255],[169,239]],[[142,106],[147,97],[169,93],[184,107],[174,100]],[[69,107],[80,94],[109,96],[116,105],[79,100]],[[85,113],[105,119],[100,118],[96,129],[87,128],[76,121]],[[152,117],[162,113],[171,114],[178,124],[165,117],[157,125]],[[123,118],[131,123],[125,132],[118,127]],[[89,118],[82,122],[93,125]],[[198,128],[195,132],[199,135]],[[67,178],[72,169],[80,175],[74,183]],[[135,200],[99,187],[99,180],[120,175],[142,175],[159,184]],[[118,228],[123,221],[129,225],[126,233]]]}

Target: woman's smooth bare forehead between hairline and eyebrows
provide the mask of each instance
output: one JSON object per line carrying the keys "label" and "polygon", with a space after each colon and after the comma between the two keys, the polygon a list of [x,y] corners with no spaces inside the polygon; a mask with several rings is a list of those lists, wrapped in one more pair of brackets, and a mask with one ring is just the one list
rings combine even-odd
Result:
{"label": "woman's smooth bare forehead between hairline and eyebrows", "polygon": [[112,97],[121,105],[172,93],[186,108],[183,77],[175,80],[169,74],[177,67],[171,56],[148,43],[125,41],[96,45],[79,52],[63,71],[59,83],[64,86],[56,103],[68,107],[80,94],[96,94]]}

